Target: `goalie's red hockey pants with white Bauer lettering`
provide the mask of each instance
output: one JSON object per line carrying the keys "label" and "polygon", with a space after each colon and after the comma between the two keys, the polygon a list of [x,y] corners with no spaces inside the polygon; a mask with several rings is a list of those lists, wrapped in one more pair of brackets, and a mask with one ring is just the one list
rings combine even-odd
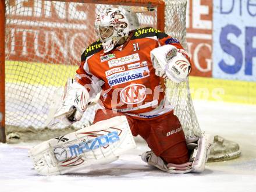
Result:
{"label": "goalie's red hockey pants with white Bauer lettering", "polygon": [[[94,123],[124,115],[110,109],[99,109],[95,114]],[[173,112],[152,119],[136,119],[126,115],[133,136],[138,134],[144,138],[148,147],[167,163],[182,164],[189,161],[186,140],[180,128],[179,119]]]}

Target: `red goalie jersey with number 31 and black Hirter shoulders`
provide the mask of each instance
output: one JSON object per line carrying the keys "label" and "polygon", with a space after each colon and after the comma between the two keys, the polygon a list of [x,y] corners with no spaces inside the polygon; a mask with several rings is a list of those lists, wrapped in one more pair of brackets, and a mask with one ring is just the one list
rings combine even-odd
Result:
{"label": "red goalie jersey with number 31 and black Hirter shoulders", "polygon": [[125,44],[105,54],[101,42],[95,41],[81,55],[79,83],[90,95],[102,91],[102,104],[114,111],[139,118],[172,111],[163,106],[163,79],[155,74],[150,58],[152,49],[166,44],[184,51],[177,39],[152,27],[130,31]]}

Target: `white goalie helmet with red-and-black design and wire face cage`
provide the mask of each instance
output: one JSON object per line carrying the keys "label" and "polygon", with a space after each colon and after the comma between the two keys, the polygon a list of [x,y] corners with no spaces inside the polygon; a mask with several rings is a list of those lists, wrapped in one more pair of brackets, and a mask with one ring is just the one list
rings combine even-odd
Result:
{"label": "white goalie helmet with red-and-black design and wire face cage", "polygon": [[111,51],[129,33],[129,22],[119,9],[108,8],[95,19],[94,29],[104,52]]}

